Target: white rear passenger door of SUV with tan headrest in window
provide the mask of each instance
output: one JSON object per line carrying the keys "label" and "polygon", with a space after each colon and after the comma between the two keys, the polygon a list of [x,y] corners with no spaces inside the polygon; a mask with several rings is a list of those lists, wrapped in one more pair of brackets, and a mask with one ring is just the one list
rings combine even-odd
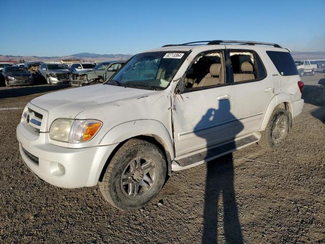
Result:
{"label": "white rear passenger door of SUV with tan headrest in window", "polygon": [[228,50],[233,88],[233,113],[243,124],[237,135],[247,135],[261,128],[262,119],[274,94],[274,80],[263,59],[253,50]]}

